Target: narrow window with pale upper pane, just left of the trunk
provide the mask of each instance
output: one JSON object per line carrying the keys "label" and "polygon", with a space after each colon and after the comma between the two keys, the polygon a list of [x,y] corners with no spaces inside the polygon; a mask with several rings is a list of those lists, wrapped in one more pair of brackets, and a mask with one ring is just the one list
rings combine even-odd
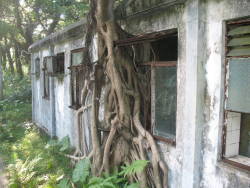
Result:
{"label": "narrow window with pale upper pane, just left of the trunk", "polygon": [[81,90],[84,84],[83,78],[83,48],[71,51],[71,105],[70,108],[78,109],[81,106]]}

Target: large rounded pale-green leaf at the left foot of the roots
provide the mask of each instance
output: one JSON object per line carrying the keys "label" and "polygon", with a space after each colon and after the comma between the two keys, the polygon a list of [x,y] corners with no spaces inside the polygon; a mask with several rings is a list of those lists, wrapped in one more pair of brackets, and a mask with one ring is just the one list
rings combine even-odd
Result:
{"label": "large rounded pale-green leaf at the left foot of the roots", "polygon": [[74,183],[86,182],[87,177],[90,174],[90,160],[88,158],[80,160],[73,171],[72,180]]}

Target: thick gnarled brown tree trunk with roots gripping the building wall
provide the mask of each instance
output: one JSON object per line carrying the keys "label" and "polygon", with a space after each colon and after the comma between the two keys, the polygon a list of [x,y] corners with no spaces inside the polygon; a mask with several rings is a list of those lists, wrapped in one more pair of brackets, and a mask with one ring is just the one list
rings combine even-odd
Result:
{"label": "thick gnarled brown tree trunk with roots gripping the building wall", "polygon": [[[143,96],[140,95],[141,84],[133,60],[127,56],[124,48],[114,46],[116,40],[126,37],[125,32],[115,22],[114,2],[114,0],[98,1],[96,12],[97,30],[107,49],[106,61],[103,63],[111,85],[110,97],[106,101],[111,105],[107,105],[110,108],[105,110],[108,111],[106,114],[113,114],[109,118],[106,117],[110,133],[104,145],[103,168],[109,172],[111,167],[130,163],[136,159],[145,160],[147,152],[151,152],[152,169],[148,171],[151,171],[149,174],[153,176],[146,175],[144,171],[137,174],[135,180],[140,181],[141,187],[166,188],[167,167],[160,159],[155,140],[140,121]],[[144,146],[145,143],[148,144],[147,148]],[[110,155],[111,151],[113,153]]]}

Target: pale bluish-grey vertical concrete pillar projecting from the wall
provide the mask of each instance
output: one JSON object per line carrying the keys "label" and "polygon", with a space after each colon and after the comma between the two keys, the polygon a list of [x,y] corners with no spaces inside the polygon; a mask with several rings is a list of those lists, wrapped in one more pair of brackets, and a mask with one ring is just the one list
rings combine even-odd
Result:
{"label": "pale bluish-grey vertical concrete pillar projecting from the wall", "polygon": [[202,126],[205,94],[205,72],[202,65],[204,14],[200,0],[186,2],[186,91],[183,127],[183,188],[200,187],[202,164]]}

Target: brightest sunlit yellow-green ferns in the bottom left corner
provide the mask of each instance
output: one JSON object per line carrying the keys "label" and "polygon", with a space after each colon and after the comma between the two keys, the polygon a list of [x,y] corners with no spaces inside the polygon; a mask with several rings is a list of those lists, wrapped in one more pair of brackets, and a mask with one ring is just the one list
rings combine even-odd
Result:
{"label": "brightest sunlit yellow-green ferns in the bottom left corner", "polygon": [[49,137],[31,126],[26,127],[18,143],[10,144],[11,151],[7,152],[11,158],[5,160],[10,163],[7,168],[10,187],[55,188],[64,176],[72,174],[70,160],[59,153],[59,141],[53,141],[56,144],[47,147]]}

